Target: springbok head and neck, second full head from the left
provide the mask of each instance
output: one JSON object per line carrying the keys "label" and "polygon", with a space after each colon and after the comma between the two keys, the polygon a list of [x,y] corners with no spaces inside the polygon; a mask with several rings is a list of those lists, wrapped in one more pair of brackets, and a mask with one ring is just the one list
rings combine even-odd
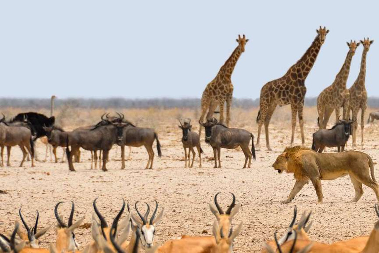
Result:
{"label": "springbok head and neck, second full head from the left", "polygon": [[63,202],[58,202],[58,204],[55,205],[55,208],[54,208],[55,218],[58,221],[57,239],[56,239],[56,243],[55,243],[55,248],[56,248],[58,253],[68,252],[68,251],[75,252],[76,249],[79,248],[79,246],[75,240],[74,230],[80,226],[80,224],[81,224],[81,222],[83,222],[85,216],[83,216],[82,218],[80,218],[78,221],[76,221],[73,224],[75,205],[74,205],[74,202],[72,202],[69,221],[66,224],[58,214],[58,207],[62,203]]}

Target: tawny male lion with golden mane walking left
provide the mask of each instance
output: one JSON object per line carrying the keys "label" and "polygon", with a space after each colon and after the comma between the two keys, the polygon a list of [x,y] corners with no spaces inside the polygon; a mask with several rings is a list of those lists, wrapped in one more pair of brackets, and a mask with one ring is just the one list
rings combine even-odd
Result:
{"label": "tawny male lion with golden mane walking left", "polygon": [[[278,156],[272,165],[279,173],[287,171],[294,173],[296,183],[284,204],[290,203],[311,180],[316,190],[318,203],[322,203],[321,180],[334,180],[336,178],[350,175],[354,185],[355,197],[352,200],[357,202],[362,194],[362,183],[374,190],[379,202],[379,187],[374,176],[374,164],[371,157],[358,151],[347,151],[341,153],[320,154],[308,148],[296,146],[286,148]],[[369,169],[371,169],[371,176]]]}

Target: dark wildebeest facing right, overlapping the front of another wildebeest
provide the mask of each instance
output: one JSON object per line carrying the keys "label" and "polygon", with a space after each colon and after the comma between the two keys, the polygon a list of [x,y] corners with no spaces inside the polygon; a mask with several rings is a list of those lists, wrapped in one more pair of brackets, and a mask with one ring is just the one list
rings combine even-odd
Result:
{"label": "dark wildebeest facing right, overlapping the front of another wildebeest", "polygon": [[[117,142],[118,132],[127,126],[125,123],[109,123],[92,129],[76,129],[68,134],[66,154],[69,169],[75,171],[71,154],[76,154],[79,148],[88,151],[103,151],[103,171],[107,171],[106,163],[109,151]],[[71,151],[69,149],[71,146]]]}

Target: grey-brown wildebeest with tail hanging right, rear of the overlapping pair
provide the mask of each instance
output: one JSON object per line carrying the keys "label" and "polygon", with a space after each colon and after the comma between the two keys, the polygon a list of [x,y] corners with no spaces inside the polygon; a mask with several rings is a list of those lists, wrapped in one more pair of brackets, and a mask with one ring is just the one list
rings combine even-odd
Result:
{"label": "grey-brown wildebeest with tail hanging right, rear of the overlapping pair", "polygon": [[158,135],[152,128],[136,127],[130,122],[124,123],[124,115],[120,118],[122,124],[125,124],[122,131],[117,128],[117,144],[121,146],[121,169],[125,169],[125,146],[141,147],[145,146],[149,154],[149,161],[145,169],[152,169],[152,162],[154,160],[154,151],[152,150],[152,144],[154,139],[156,140],[156,150],[158,157],[162,157],[162,151],[160,150],[160,143]]}

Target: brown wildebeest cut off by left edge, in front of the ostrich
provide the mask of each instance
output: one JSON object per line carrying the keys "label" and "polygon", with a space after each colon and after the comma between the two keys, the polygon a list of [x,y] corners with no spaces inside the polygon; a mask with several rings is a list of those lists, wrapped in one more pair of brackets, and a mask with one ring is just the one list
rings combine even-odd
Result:
{"label": "brown wildebeest cut off by left edge, in front of the ostrich", "polygon": [[[10,150],[18,145],[23,153],[20,167],[24,164],[28,152],[32,156],[32,167],[34,167],[34,142],[32,131],[28,127],[11,126],[5,121],[5,117],[0,120],[0,146],[1,146],[1,167],[4,163],[4,146],[7,149],[6,166],[10,166]],[[28,150],[28,152],[25,150]]]}

